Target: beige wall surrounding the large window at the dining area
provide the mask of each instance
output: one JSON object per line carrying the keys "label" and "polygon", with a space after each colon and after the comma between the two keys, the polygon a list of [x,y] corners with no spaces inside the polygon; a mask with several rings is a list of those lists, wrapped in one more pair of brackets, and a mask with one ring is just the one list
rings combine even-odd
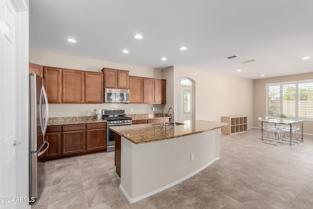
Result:
{"label": "beige wall surrounding the large window at the dining area", "polygon": [[[258,117],[266,116],[266,84],[308,79],[313,79],[313,72],[254,80],[254,126],[259,127]],[[313,134],[313,121],[305,121],[303,129],[304,133]]]}

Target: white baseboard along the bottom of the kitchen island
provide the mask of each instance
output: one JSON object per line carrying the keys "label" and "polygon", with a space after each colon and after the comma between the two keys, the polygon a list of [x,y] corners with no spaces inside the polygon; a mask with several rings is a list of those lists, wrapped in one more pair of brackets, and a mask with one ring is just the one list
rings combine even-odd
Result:
{"label": "white baseboard along the bottom of the kitchen island", "polygon": [[145,199],[145,198],[147,198],[147,197],[149,197],[149,196],[151,196],[151,195],[154,195],[154,194],[156,194],[156,193],[158,193],[158,192],[160,192],[160,191],[163,191],[163,190],[165,190],[165,189],[167,189],[167,188],[169,188],[169,187],[171,187],[171,186],[175,186],[175,185],[179,184],[180,182],[182,182],[182,181],[184,181],[184,180],[186,180],[186,179],[188,179],[188,178],[194,176],[195,174],[199,173],[201,170],[203,170],[204,168],[206,168],[207,166],[209,166],[210,164],[212,164],[214,161],[220,160],[220,159],[221,159],[221,157],[214,158],[212,161],[210,161],[209,163],[203,165],[201,168],[195,170],[194,172],[188,174],[187,176],[184,176],[184,177],[182,177],[181,179],[179,179],[179,180],[177,180],[177,181],[175,181],[175,182],[172,182],[171,184],[162,186],[162,187],[160,187],[160,188],[158,188],[158,189],[156,189],[156,190],[153,190],[153,191],[148,192],[148,193],[146,193],[146,194],[140,195],[139,197],[136,197],[136,198],[131,198],[131,197],[128,195],[128,193],[126,192],[126,190],[123,188],[123,186],[122,186],[121,184],[119,185],[119,188],[122,190],[122,192],[123,192],[123,194],[125,195],[125,197],[127,198],[128,202],[129,202],[130,204],[133,204],[133,203],[135,203],[135,202],[137,202],[137,201],[139,201],[139,200]]}

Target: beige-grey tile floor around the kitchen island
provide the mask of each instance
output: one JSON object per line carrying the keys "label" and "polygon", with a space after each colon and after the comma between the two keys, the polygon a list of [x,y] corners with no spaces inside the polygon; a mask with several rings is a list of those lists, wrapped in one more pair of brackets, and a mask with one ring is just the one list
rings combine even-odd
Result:
{"label": "beige-grey tile floor around the kitchen island", "polygon": [[32,209],[313,209],[313,136],[273,146],[260,135],[221,135],[221,160],[134,204],[118,188],[113,152],[47,162]]}

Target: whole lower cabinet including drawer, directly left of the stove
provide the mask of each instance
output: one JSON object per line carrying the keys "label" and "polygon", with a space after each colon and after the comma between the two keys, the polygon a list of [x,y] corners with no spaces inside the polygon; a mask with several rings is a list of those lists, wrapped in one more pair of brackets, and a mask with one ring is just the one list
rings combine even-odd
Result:
{"label": "whole lower cabinet including drawer, directly left of the stove", "polygon": [[87,151],[106,149],[106,123],[87,124]]}

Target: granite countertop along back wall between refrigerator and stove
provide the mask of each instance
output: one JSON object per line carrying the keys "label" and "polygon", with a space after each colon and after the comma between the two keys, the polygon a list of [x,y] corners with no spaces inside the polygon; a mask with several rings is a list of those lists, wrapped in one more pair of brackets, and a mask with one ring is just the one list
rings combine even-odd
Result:
{"label": "granite countertop along back wall between refrigerator and stove", "polygon": [[48,126],[52,125],[72,125],[84,123],[103,123],[107,120],[97,120],[95,116],[75,116],[75,117],[49,117]]}

